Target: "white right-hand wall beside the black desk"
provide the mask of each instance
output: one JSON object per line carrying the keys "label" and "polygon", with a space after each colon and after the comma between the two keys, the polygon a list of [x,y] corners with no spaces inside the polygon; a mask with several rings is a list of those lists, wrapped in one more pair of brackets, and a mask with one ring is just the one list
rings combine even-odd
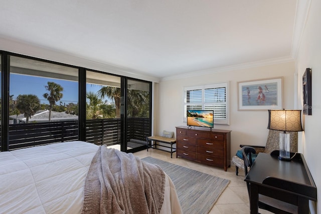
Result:
{"label": "white right-hand wall beside the black desk", "polygon": [[[296,58],[295,70],[298,73],[298,106],[302,107],[302,75],[306,68],[312,69],[312,115],[303,115],[302,138],[299,139],[302,153],[312,174],[316,187],[321,184],[321,1],[313,0],[305,23],[301,44]],[[321,194],[318,189],[317,197]],[[311,213],[321,213],[321,205],[310,204]],[[316,209],[316,210],[315,210]]]}

